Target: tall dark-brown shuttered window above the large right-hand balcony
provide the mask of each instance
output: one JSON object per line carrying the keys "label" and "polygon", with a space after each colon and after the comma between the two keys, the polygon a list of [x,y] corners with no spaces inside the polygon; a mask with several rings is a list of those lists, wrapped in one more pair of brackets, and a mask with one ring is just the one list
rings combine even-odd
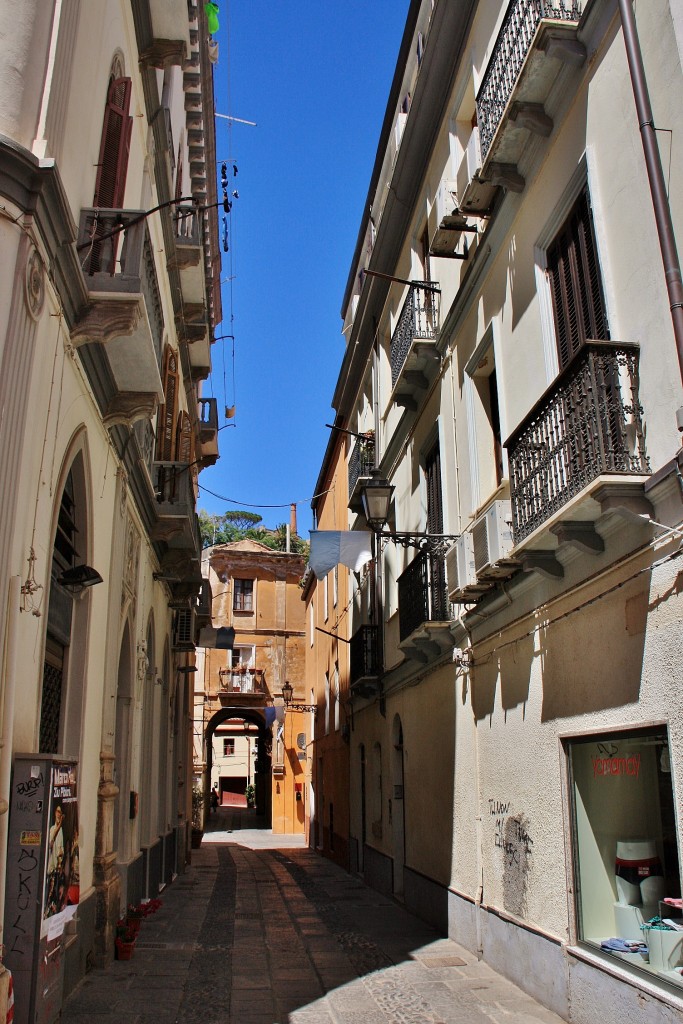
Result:
{"label": "tall dark-brown shuttered window above the large right-hand balcony", "polygon": [[587,185],[548,248],[547,274],[563,370],[588,338],[609,338]]}

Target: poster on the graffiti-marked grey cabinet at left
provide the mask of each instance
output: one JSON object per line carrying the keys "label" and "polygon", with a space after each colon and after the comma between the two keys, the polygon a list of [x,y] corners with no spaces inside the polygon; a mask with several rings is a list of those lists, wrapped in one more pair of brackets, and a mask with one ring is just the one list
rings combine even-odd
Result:
{"label": "poster on the graffiti-marked grey cabinet at left", "polygon": [[52,765],[41,934],[56,938],[78,908],[80,864],[76,765]]}

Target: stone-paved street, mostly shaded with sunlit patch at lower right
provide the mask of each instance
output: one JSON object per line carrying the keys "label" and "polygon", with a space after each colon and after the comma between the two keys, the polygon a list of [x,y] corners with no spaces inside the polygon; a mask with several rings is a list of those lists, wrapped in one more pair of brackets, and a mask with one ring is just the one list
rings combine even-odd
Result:
{"label": "stone-paved street, mostly shaded with sunlit patch at lower right", "polygon": [[87,975],[61,1024],[559,1024],[301,837],[254,824],[212,815],[133,958]]}

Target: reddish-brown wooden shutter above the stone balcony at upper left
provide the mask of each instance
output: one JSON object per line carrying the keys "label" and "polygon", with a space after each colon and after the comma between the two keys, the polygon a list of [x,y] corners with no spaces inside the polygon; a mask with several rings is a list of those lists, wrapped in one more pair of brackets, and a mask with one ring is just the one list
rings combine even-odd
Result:
{"label": "reddish-brown wooden shutter above the stone balcony at upper left", "polygon": [[117,78],[111,83],[106,96],[93,200],[93,206],[102,209],[123,207],[133,129],[133,119],[128,114],[131,91],[131,79]]}

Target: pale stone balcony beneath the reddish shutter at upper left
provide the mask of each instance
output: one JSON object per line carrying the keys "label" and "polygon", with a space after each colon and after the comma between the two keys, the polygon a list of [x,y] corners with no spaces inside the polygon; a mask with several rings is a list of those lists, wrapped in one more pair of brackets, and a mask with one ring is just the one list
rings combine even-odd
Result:
{"label": "pale stone balcony beneath the reddish shutter at upper left", "polygon": [[164,317],[144,213],[81,211],[78,253],[89,305],[72,331],[78,347],[101,346],[114,382],[106,426],[154,415],[164,392],[161,351]]}

